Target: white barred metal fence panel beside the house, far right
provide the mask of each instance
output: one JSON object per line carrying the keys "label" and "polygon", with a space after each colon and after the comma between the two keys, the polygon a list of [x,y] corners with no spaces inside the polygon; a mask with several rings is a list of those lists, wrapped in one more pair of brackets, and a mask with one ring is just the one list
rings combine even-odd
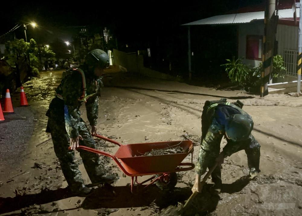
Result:
{"label": "white barred metal fence panel beside the house, far right", "polygon": [[297,50],[284,50],[284,67],[286,67],[286,75],[297,77]]}

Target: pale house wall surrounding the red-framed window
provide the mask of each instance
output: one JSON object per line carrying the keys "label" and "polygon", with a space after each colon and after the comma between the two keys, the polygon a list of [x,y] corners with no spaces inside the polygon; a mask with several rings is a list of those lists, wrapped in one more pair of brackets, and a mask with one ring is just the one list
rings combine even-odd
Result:
{"label": "pale house wall surrounding the red-framed window", "polygon": [[263,21],[255,21],[247,24],[240,24],[238,28],[238,57],[243,57],[243,63],[250,64],[252,67],[258,67],[261,61],[246,59],[246,36],[263,35]]}

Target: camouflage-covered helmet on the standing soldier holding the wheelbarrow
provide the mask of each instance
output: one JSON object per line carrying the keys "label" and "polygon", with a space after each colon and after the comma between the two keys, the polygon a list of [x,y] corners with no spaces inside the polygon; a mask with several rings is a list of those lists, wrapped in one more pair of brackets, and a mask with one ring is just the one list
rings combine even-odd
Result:
{"label": "camouflage-covered helmet on the standing soldier holding the wheelbarrow", "polygon": [[85,62],[89,66],[108,68],[109,67],[109,56],[107,53],[100,49],[90,51],[86,57]]}

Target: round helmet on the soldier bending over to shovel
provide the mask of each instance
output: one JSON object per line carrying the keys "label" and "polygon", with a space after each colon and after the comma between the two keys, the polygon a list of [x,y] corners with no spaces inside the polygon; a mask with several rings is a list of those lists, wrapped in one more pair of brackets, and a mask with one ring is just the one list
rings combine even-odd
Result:
{"label": "round helmet on the soldier bending over to shovel", "polygon": [[228,118],[225,132],[228,139],[232,141],[243,141],[252,132],[254,123],[251,118],[242,114],[235,114]]}

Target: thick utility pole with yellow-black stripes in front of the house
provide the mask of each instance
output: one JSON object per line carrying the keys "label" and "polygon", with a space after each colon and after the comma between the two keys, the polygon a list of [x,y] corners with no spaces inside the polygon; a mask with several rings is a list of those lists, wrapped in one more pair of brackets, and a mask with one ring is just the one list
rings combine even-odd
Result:
{"label": "thick utility pole with yellow-black stripes in front of the house", "polygon": [[[272,81],[273,57],[275,47],[275,34],[277,28],[278,16],[275,15],[276,0],[267,0],[264,18],[263,44],[264,54],[262,56],[263,71],[261,72],[262,85],[260,89],[260,97],[268,95],[268,82]],[[263,58],[264,57],[264,58]]]}

